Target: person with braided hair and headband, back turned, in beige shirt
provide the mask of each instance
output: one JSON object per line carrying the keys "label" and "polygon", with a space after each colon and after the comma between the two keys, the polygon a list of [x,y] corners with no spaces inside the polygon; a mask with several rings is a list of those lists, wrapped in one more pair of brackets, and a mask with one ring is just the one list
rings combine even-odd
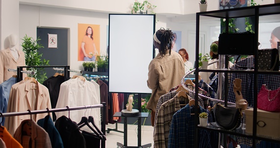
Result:
{"label": "person with braided hair and headband, back turned, in beige shirt", "polygon": [[171,50],[173,39],[174,33],[169,29],[160,29],[153,34],[153,45],[159,53],[150,62],[147,80],[152,95],[146,108],[152,110],[152,125],[159,97],[178,86],[185,72],[182,57]]}

